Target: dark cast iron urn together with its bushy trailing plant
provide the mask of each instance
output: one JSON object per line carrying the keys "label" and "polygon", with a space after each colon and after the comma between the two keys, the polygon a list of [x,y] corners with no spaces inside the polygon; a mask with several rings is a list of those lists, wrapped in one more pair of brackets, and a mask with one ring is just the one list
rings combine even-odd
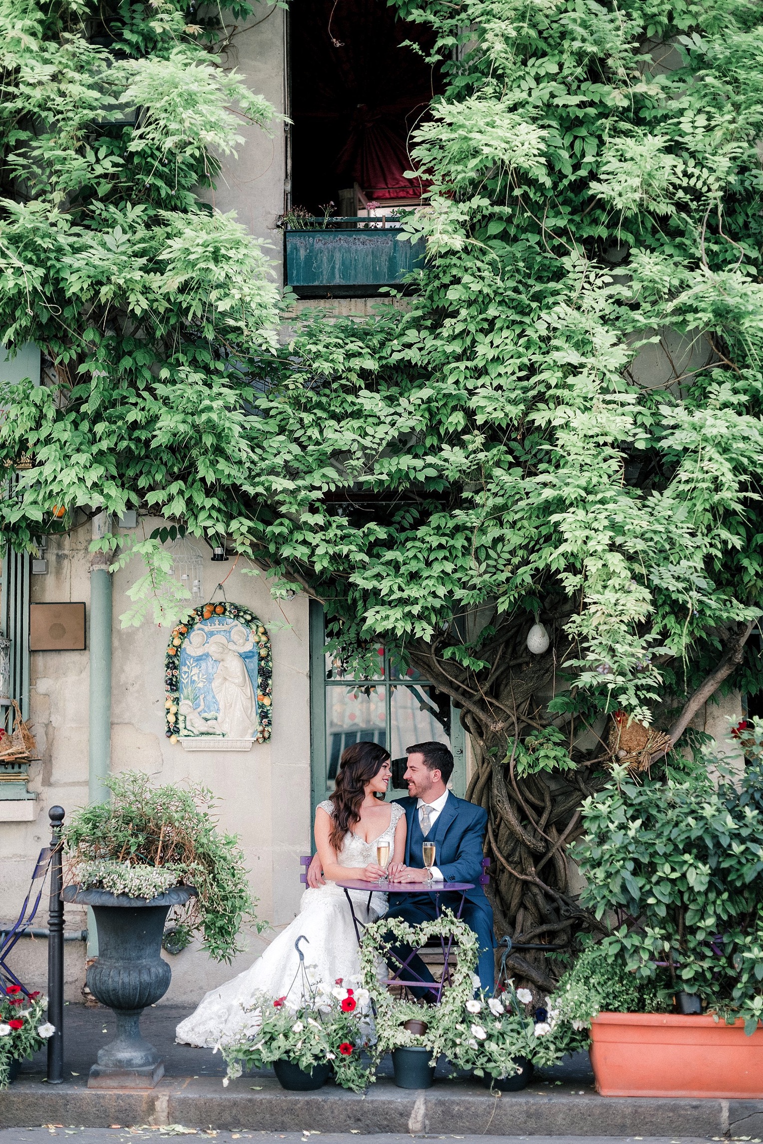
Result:
{"label": "dark cast iron urn together with its bushy trailing plant", "polygon": [[88,1085],[152,1088],[164,1063],[138,1023],[169,986],[160,955],[169,909],[182,909],[180,924],[204,935],[212,958],[230,962],[254,901],[238,841],[216,829],[208,791],[156,787],[133,771],[106,785],[111,801],[77,811],[63,834],[64,900],[92,906],[98,931],[87,985],[117,1016],[117,1038],[100,1050]]}

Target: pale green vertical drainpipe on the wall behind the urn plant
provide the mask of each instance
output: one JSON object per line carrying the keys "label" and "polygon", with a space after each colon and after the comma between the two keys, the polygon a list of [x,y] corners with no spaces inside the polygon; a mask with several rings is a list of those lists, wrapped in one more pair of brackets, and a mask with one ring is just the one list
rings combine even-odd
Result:
{"label": "pale green vertical drainpipe on the wall behind the urn plant", "polygon": [[[93,538],[109,531],[105,513],[93,521]],[[90,804],[109,802],[103,780],[111,764],[111,563],[108,553],[94,553],[90,561],[90,720],[88,794]],[[93,911],[88,909],[88,958],[98,955]]]}

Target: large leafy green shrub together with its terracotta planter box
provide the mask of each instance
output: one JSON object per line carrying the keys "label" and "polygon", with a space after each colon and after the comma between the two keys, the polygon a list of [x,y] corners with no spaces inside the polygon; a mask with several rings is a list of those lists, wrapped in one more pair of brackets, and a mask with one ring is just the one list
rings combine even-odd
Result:
{"label": "large leafy green shrub together with its terracotta planter box", "polygon": [[737,734],[737,785],[707,749],[717,788],[615,768],[585,804],[573,856],[604,936],[559,984],[555,1040],[590,1040],[603,1095],[763,1097],[763,723]]}

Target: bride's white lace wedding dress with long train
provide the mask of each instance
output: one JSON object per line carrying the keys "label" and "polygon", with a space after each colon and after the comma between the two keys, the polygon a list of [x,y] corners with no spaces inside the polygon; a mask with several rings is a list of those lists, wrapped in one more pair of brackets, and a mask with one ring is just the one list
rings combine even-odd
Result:
{"label": "bride's white lace wedding dress with long train", "polygon": [[[320,807],[331,815],[331,802],[321,802]],[[367,866],[375,861],[379,842],[389,842],[390,856],[392,855],[395,829],[404,811],[398,803],[390,803],[390,807],[392,810],[390,824],[373,842],[364,842],[351,831],[345,834],[337,856],[340,866]],[[368,889],[371,887],[369,882]],[[387,913],[386,893],[374,893],[371,909],[366,912],[368,891],[349,892],[356,916],[360,921],[374,921]],[[300,972],[300,955],[294,946],[300,936],[307,938],[300,946],[304,954],[305,968],[315,967],[311,976],[316,980],[333,985],[336,978],[341,977],[349,984],[349,978],[358,977],[360,958],[350,907],[344,891],[335,882],[327,882],[317,890],[304,891],[300,913],[273,938],[249,969],[225,982],[224,985],[209,990],[191,1016],[177,1026],[175,1031],[177,1042],[198,1048],[214,1048],[243,1034],[256,1032],[260,1026],[259,1014],[245,1012],[256,993],[300,1000],[303,993],[303,975]]]}

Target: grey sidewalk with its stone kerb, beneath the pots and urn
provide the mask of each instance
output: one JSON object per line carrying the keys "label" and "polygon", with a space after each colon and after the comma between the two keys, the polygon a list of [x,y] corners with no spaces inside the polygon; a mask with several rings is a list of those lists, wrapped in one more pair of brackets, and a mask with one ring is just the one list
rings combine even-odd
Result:
{"label": "grey sidewalk with its stone kerb, beneath the pots and urn", "polygon": [[[18,1080],[0,1093],[0,1129],[43,1125],[72,1142],[82,1128],[110,1126],[119,1126],[122,1136],[128,1127],[153,1126],[154,1138],[186,1130],[205,1137],[231,1133],[231,1141],[275,1133],[279,1135],[262,1137],[275,1144],[291,1141],[294,1133],[302,1144],[329,1144],[344,1134],[347,1144],[360,1144],[363,1136],[380,1133],[456,1139],[666,1137],[679,1144],[689,1137],[763,1138],[763,1101],[599,1097],[587,1054],[539,1072],[528,1088],[502,1096],[472,1079],[447,1080],[445,1070],[438,1070],[430,1089],[397,1088],[389,1060],[361,1096],[331,1082],[315,1093],[287,1093],[270,1071],[247,1073],[223,1088],[220,1054],[174,1043],[175,1026],[190,1011],[177,1006],[148,1009],[142,1020],[144,1035],[165,1057],[166,1075],[154,1089],[88,1089],[89,1067],[98,1048],[113,1038],[114,1018],[102,1007],[70,1004],[64,1011],[65,1082],[46,1083],[43,1054],[26,1062]],[[324,1139],[310,1142],[313,1134]],[[105,1144],[105,1137],[98,1141]],[[21,1144],[18,1135],[13,1144]]]}

